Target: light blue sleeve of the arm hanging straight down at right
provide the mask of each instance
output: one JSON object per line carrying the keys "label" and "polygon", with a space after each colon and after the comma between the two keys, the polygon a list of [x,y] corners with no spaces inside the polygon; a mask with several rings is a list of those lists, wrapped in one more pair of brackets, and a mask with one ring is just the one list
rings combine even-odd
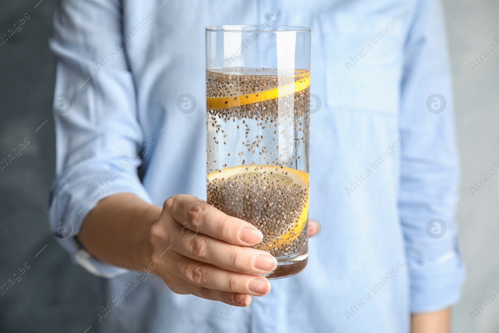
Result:
{"label": "light blue sleeve of the arm hanging straight down at right", "polygon": [[411,311],[423,313],[457,303],[465,273],[453,217],[459,160],[444,16],[439,1],[413,6],[401,81],[399,211]]}

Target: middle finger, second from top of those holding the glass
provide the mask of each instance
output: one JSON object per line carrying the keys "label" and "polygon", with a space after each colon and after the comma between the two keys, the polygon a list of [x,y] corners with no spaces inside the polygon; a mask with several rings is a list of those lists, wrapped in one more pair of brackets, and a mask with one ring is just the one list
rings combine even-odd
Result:
{"label": "middle finger, second from top of those holding the glass", "polygon": [[[176,229],[174,232],[181,235],[181,226]],[[265,251],[235,246],[203,234],[172,239],[177,253],[231,272],[266,274],[277,267],[277,260]]]}

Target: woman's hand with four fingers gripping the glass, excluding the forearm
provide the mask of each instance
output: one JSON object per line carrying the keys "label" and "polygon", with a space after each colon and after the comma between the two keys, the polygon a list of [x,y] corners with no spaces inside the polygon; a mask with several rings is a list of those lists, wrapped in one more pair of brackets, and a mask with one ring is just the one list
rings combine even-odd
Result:
{"label": "woman's hand with four fingers gripping the glass, excluding the forearm", "polygon": [[154,274],[175,293],[246,307],[251,296],[270,291],[268,280],[255,274],[277,266],[267,252],[247,247],[262,238],[250,223],[197,197],[176,195],[151,227]]}

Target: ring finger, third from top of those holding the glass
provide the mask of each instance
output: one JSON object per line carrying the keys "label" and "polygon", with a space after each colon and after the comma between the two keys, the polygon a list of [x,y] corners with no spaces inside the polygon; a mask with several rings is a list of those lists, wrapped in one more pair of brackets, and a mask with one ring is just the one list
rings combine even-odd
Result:
{"label": "ring finger, third from top of those holding the glass", "polygon": [[263,296],[270,292],[270,283],[262,276],[232,273],[177,253],[173,256],[169,265],[169,273],[192,285],[215,291],[254,296]]}

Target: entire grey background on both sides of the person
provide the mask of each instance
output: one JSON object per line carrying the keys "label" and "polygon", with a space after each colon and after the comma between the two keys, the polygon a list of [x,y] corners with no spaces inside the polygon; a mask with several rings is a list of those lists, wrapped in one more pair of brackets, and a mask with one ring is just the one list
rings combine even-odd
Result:
{"label": "entire grey background on both sides of the person", "polygon": [[[97,324],[99,280],[71,264],[48,231],[46,197],[54,178],[55,137],[54,63],[47,42],[55,0],[38,1],[2,2],[0,10],[0,34],[25,12],[30,15],[0,46],[0,160],[24,138],[30,140],[22,155],[0,171],[0,284],[29,265],[22,280],[0,296],[0,332],[91,333]],[[467,267],[451,332],[497,333],[499,300],[475,321],[470,312],[492,293],[499,296],[494,290],[499,290],[499,176],[475,196],[470,186],[491,168],[498,170],[493,164],[499,164],[499,50],[475,71],[470,61],[491,43],[499,46],[494,41],[499,39],[499,2],[444,0],[444,6],[462,166],[463,204],[455,215]]]}

